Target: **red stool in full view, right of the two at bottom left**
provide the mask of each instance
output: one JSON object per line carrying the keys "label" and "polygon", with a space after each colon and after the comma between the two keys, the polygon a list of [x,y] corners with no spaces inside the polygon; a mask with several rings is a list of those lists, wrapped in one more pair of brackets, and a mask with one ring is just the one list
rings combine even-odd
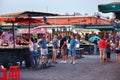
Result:
{"label": "red stool in full view, right of the two at bottom left", "polygon": [[8,80],[20,80],[20,67],[10,66]]}

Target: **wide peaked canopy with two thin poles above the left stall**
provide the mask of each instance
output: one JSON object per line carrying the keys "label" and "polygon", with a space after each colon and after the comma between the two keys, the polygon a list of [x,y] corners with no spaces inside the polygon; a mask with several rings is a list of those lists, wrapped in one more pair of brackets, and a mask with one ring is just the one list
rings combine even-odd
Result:
{"label": "wide peaked canopy with two thin poles above the left stall", "polygon": [[[28,32],[29,32],[29,38],[30,38],[30,22],[31,22],[31,18],[32,17],[40,17],[40,16],[58,16],[59,14],[52,14],[52,13],[44,13],[44,12],[33,12],[33,11],[24,11],[24,12],[17,12],[17,13],[10,13],[10,14],[4,14],[4,15],[0,15],[0,17],[15,17],[15,18],[24,18],[27,17],[28,18],[28,23],[29,23],[29,28],[28,28]],[[12,27],[13,27],[13,36],[15,35],[14,33],[14,23],[15,21],[10,21],[12,23]],[[13,42],[14,42],[14,48],[15,48],[15,39],[13,38]]]}

